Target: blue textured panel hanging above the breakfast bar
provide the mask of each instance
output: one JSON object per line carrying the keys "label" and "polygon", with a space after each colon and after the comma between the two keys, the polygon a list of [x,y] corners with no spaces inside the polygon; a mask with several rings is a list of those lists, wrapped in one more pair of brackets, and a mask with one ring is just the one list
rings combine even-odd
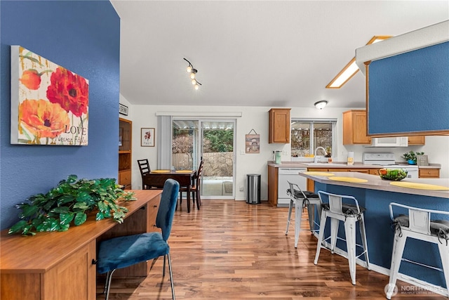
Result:
{"label": "blue textured panel hanging above the breakfast bar", "polygon": [[449,130],[449,42],[369,65],[368,134]]}

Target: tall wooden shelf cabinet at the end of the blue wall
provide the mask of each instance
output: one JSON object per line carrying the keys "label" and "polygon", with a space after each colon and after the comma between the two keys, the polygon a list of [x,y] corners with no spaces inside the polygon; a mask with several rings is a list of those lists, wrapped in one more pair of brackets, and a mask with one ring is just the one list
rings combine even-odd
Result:
{"label": "tall wooden shelf cabinet at the end of the blue wall", "polygon": [[131,148],[133,122],[119,118],[119,178],[118,183],[131,189]]}

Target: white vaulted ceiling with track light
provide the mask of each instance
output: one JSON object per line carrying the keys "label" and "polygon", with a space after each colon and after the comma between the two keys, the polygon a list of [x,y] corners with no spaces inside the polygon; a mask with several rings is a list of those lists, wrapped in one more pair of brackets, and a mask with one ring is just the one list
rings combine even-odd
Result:
{"label": "white vaulted ceiling with track light", "polygon": [[[111,0],[134,105],[364,107],[365,77],[325,86],[356,48],[449,19],[449,1]],[[199,91],[185,68],[198,70]]]}

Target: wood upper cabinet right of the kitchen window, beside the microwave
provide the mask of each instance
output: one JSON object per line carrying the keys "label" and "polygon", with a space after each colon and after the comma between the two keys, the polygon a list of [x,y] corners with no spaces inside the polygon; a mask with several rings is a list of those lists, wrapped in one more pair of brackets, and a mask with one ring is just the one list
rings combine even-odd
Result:
{"label": "wood upper cabinet right of the kitchen window, beside the microwave", "polygon": [[343,145],[370,144],[366,128],[366,110],[343,112]]}

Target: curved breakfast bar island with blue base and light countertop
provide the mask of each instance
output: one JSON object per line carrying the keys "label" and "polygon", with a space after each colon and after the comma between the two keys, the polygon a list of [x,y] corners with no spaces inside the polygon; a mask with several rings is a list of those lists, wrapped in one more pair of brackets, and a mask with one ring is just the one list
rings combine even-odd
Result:
{"label": "curved breakfast bar island with blue base and light countertop", "polygon": [[[329,172],[326,176],[321,175],[325,174],[311,171],[300,173],[300,176],[314,181],[315,193],[322,190],[353,196],[356,197],[360,206],[366,208],[364,216],[370,269],[385,275],[389,275],[394,242],[389,204],[396,202],[410,207],[449,211],[449,178],[405,178],[402,181],[386,181],[380,176],[357,172]],[[391,184],[392,182],[410,187],[395,186]],[[441,219],[447,220],[448,216],[443,216]],[[319,223],[317,214],[315,214],[315,221]],[[329,222],[327,222],[325,238],[328,237],[329,231]],[[343,226],[339,227],[338,236],[344,238]],[[361,244],[358,228],[356,236],[356,243]],[[441,239],[441,242],[446,244],[448,240]],[[337,240],[335,252],[346,255],[346,244],[343,240]],[[366,266],[362,258],[363,256],[357,262],[361,266]],[[444,273],[441,270],[443,265],[436,244],[408,238],[403,259],[405,260],[401,262],[398,280],[408,282],[420,289],[448,296]],[[420,264],[435,268],[427,268]]]}

